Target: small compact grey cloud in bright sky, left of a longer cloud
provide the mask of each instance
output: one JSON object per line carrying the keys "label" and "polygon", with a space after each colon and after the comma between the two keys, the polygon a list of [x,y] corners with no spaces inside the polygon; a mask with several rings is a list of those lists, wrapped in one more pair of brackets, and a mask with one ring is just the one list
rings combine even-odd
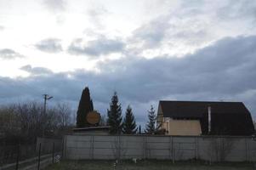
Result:
{"label": "small compact grey cloud in bright sky, left of a longer cloud", "polygon": [[60,42],[60,39],[48,38],[35,44],[35,47],[46,53],[60,53],[63,50]]}

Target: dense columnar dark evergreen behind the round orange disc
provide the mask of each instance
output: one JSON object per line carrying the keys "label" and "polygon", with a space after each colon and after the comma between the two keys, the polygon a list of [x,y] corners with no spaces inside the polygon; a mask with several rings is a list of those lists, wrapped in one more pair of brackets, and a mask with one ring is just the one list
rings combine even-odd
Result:
{"label": "dense columnar dark evergreen behind the round orange disc", "polygon": [[82,96],[77,110],[77,127],[88,127],[89,123],[86,120],[88,112],[94,111],[93,100],[90,98],[89,88],[82,90]]}

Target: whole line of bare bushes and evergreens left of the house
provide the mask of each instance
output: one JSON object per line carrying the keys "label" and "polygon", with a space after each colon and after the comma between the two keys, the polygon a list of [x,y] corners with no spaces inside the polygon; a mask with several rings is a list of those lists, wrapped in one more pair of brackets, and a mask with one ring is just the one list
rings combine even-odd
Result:
{"label": "whole line of bare bushes and evergreens left of the house", "polygon": [[[86,114],[94,111],[89,90],[85,88],[77,110],[77,127],[87,127]],[[42,103],[27,102],[13,105],[0,105],[0,144],[34,144],[37,137],[61,137],[71,133],[74,127],[71,107],[66,103],[48,105],[46,111]],[[158,132],[153,106],[148,111],[148,121],[144,130],[137,126],[131,105],[122,117],[122,106],[117,92],[111,98],[106,115],[101,115],[100,126],[110,126],[111,134],[135,134]]]}

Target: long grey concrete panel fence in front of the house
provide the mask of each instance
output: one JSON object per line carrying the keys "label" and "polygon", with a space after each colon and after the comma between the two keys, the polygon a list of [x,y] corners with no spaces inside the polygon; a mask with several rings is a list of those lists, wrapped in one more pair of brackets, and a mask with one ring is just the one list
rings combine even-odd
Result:
{"label": "long grey concrete panel fence in front of the house", "polygon": [[256,161],[252,137],[67,135],[66,159]]}

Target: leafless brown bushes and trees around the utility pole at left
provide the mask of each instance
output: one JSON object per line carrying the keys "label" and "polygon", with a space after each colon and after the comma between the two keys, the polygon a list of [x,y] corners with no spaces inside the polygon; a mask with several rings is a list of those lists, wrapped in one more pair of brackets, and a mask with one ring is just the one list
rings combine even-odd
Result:
{"label": "leafless brown bushes and trees around the utility pole at left", "polygon": [[37,137],[61,137],[71,131],[71,108],[67,104],[48,106],[28,102],[0,107],[0,142],[33,144]]}

